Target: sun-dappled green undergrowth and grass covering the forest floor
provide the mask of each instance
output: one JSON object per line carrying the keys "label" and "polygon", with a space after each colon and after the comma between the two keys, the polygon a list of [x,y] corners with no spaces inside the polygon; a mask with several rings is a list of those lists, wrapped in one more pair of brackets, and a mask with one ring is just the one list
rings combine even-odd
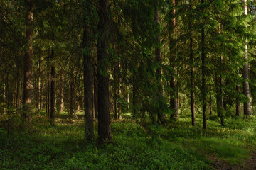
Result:
{"label": "sun-dappled green undergrowth and grass covering the forest floor", "polygon": [[208,130],[202,130],[197,117],[196,127],[186,114],[165,127],[115,121],[113,143],[99,145],[83,140],[82,113],[78,121],[61,113],[50,127],[42,112],[30,133],[8,137],[0,128],[0,169],[213,169],[212,158],[240,164],[254,152],[254,116],[228,118],[225,127],[212,116]]}

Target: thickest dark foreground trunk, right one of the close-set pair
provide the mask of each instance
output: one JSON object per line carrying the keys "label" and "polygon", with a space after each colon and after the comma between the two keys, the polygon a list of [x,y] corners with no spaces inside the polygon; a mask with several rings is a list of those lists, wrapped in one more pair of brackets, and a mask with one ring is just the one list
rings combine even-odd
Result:
{"label": "thickest dark foreground trunk, right one of the close-set pair", "polygon": [[109,25],[109,1],[99,0],[99,39],[97,45],[98,61],[98,135],[100,141],[112,141],[110,128],[110,98],[109,98],[109,75],[107,73],[108,58],[108,25]]}

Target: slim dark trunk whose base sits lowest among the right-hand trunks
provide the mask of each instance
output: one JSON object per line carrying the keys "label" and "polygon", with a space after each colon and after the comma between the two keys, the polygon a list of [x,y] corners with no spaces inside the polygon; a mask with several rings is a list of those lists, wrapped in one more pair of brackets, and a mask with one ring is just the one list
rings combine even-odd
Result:
{"label": "slim dark trunk whose base sits lowest among the right-hand trunks", "polygon": [[[204,3],[204,1],[201,1],[202,4]],[[207,124],[206,124],[206,49],[205,49],[205,31],[204,28],[201,28],[201,61],[202,61],[202,65],[201,65],[201,69],[202,69],[202,101],[203,101],[203,129],[207,128]]]}

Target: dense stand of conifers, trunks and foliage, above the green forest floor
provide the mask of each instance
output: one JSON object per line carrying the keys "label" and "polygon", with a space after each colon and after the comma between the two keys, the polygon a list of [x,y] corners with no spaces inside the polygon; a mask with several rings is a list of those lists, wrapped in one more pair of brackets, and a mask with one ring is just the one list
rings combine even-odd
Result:
{"label": "dense stand of conifers, trunks and foliage, above the green forest floor", "polygon": [[255,5],[1,0],[0,127],[58,129],[66,115],[86,141],[112,143],[115,123],[159,139],[185,117],[202,133],[255,120]]}

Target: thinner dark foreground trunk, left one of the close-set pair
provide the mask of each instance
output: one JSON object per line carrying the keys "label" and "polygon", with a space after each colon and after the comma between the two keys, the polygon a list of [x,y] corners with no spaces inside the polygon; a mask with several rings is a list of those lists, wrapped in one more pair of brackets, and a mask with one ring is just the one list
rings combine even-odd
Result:
{"label": "thinner dark foreground trunk, left one of the close-set pair", "polygon": [[86,26],[83,33],[82,47],[86,48],[83,54],[83,72],[84,72],[84,104],[85,104],[85,139],[93,140],[93,96],[92,96],[92,58],[91,58],[91,40],[90,28]]}

